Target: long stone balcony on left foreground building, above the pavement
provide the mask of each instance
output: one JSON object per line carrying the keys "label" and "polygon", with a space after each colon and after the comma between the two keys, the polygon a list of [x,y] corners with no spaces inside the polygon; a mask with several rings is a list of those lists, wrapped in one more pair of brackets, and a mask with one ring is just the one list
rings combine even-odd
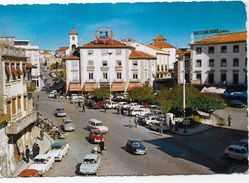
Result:
{"label": "long stone balcony on left foreground building, above the pavement", "polygon": [[6,127],[6,133],[8,135],[18,134],[27,126],[34,123],[36,120],[37,120],[36,111],[32,111],[30,114],[26,115],[22,119],[17,120],[16,122],[10,122],[10,126]]}

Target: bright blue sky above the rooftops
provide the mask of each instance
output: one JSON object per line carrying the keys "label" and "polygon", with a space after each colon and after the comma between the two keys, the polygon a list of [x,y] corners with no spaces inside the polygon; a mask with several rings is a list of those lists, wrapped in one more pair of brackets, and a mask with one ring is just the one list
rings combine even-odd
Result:
{"label": "bright blue sky above the rooftops", "polygon": [[30,40],[40,49],[54,51],[68,46],[72,27],[79,33],[79,44],[85,44],[105,26],[116,40],[151,43],[161,34],[181,48],[188,47],[194,31],[246,31],[246,18],[240,1],[0,5],[0,36]]}

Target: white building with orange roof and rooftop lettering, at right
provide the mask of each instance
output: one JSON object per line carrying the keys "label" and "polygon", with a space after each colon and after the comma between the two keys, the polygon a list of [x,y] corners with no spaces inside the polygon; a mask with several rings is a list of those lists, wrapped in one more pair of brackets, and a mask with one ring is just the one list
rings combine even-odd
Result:
{"label": "white building with orange roof and rooftop lettering, at right", "polygon": [[194,42],[192,83],[247,84],[246,32],[219,34]]}

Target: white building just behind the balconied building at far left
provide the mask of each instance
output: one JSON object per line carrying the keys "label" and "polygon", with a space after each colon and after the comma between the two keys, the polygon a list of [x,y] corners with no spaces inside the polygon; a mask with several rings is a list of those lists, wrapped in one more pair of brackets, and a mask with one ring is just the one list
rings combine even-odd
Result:
{"label": "white building just behind the balconied building at far left", "polygon": [[41,91],[41,68],[40,68],[40,54],[39,46],[30,44],[29,40],[15,40],[15,47],[24,48],[28,62],[34,65],[32,69],[31,77],[32,82],[36,85],[36,91]]}

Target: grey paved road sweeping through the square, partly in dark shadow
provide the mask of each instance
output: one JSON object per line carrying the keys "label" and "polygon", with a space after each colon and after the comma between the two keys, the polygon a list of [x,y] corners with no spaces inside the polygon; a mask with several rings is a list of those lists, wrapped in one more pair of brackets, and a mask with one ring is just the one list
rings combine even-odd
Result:
{"label": "grey paved road sweeping through the square, partly in dark shadow", "polygon": [[[158,136],[156,132],[138,126],[129,128],[128,117],[116,114],[116,111],[101,112],[86,109],[79,112],[74,104],[65,99],[48,99],[45,92],[40,93],[39,112],[55,124],[61,124],[53,111],[64,107],[74,121],[76,130],[69,132],[66,141],[71,145],[68,155],[55,163],[47,176],[75,176],[78,163],[88,154],[94,145],[86,137],[87,122],[91,118],[102,120],[109,127],[105,134],[106,150],[101,156],[100,176],[106,175],[185,175],[226,173],[231,166],[240,164],[236,160],[223,158],[227,145],[247,137],[247,132],[214,127],[193,136],[177,136],[173,133]],[[140,139],[148,149],[144,156],[134,156],[126,152],[124,146],[128,139]]]}

